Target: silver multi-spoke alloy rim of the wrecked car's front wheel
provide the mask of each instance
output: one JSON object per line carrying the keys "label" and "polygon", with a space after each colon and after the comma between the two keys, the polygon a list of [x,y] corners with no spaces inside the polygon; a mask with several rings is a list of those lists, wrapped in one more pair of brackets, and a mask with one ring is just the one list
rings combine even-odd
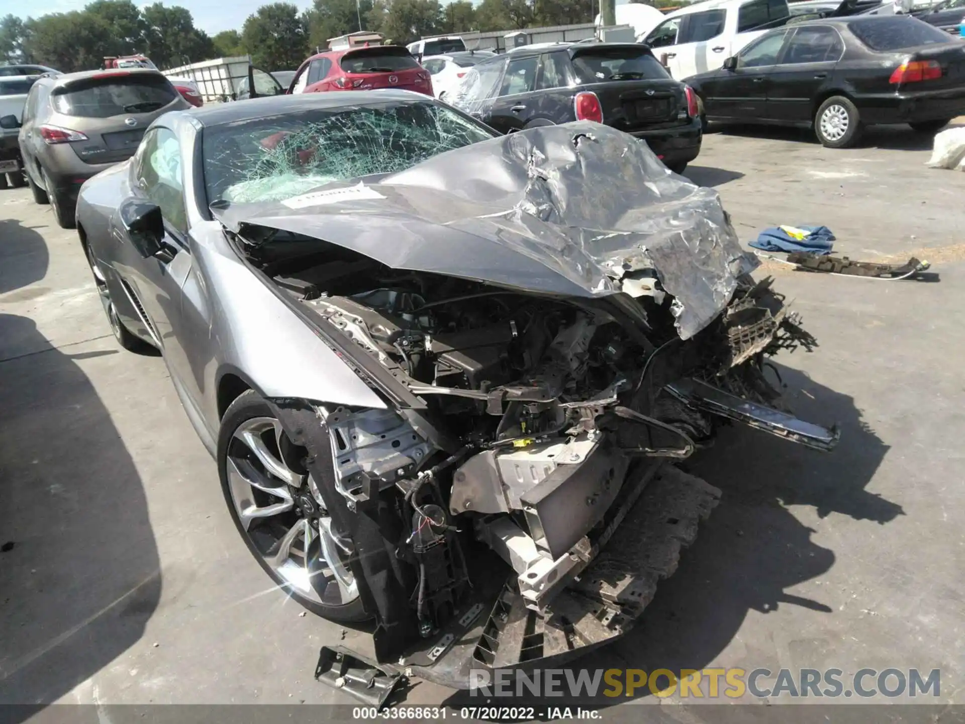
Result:
{"label": "silver multi-spoke alloy rim of the wrecked car's front wheel", "polygon": [[358,598],[345,551],[311,475],[292,470],[278,420],[255,417],[234,431],[226,467],[234,511],[249,543],[289,588],[325,605]]}

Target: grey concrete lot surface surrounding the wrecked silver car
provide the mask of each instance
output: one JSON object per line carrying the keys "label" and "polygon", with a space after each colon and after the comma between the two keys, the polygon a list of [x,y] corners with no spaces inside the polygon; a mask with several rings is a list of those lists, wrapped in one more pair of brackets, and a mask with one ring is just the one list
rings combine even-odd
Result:
{"label": "grey concrete lot surface surrounding the wrecked silver car", "polygon": [[[906,128],[847,151],[704,139],[687,175],[743,240],[824,224],[837,253],[919,255],[939,280],[761,270],[820,343],[778,359],[796,411],[840,422],[841,445],[730,429],[689,460],[721,505],[643,623],[578,665],[938,668],[928,703],[965,701],[965,174],[925,168],[929,149]],[[115,344],[75,234],[26,189],[0,192],[0,219],[0,702],[350,702],[313,671],[359,634],[271,588],[163,361]]]}

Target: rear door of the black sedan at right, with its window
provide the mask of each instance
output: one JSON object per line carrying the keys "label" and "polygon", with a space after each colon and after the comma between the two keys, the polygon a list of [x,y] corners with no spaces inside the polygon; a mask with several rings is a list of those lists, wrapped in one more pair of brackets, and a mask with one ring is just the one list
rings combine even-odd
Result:
{"label": "rear door of the black sedan at right, with its window", "polygon": [[841,35],[830,25],[806,25],[792,31],[767,83],[767,118],[788,124],[811,122],[813,99],[843,53]]}

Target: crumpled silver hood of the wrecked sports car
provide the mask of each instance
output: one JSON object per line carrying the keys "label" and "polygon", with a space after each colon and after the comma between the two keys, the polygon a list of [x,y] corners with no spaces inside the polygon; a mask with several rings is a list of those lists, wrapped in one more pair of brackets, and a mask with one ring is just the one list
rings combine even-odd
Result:
{"label": "crumpled silver hood of the wrecked sports car", "polygon": [[483,141],[374,183],[212,210],[242,237],[245,227],[285,230],[394,268],[529,292],[639,293],[624,290],[624,277],[654,270],[675,297],[683,339],[713,320],[737,277],[757,265],[713,189],[671,174],[645,143],[590,122]]}

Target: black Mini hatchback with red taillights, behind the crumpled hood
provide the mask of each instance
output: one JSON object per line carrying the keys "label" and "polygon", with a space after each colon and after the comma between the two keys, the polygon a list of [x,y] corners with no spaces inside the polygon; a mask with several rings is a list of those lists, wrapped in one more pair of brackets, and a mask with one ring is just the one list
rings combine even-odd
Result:
{"label": "black Mini hatchback with red taillights, behind the crumpled hood", "polygon": [[469,70],[452,104],[502,133],[570,121],[612,125],[647,141],[676,173],[701,152],[697,97],[646,45],[515,48]]}

